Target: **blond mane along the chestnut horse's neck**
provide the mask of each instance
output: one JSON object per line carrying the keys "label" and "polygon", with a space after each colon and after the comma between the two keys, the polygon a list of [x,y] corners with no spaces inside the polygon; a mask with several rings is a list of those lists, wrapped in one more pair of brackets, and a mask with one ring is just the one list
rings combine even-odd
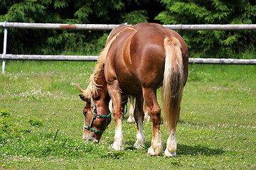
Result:
{"label": "blond mane along the chestnut horse's neck", "polygon": [[101,78],[100,74],[103,72],[103,65],[105,64],[105,60],[107,57],[107,54],[110,50],[110,46],[112,45],[112,42],[117,38],[117,36],[122,33],[124,30],[132,30],[137,32],[137,30],[135,30],[134,28],[131,27],[126,27],[123,30],[121,30],[119,33],[117,33],[116,35],[113,36],[113,38],[107,43],[107,45],[105,46],[105,48],[102,50],[102,52],[100,53],[100,57],[97,60],[97,64],[95,65],[95,70],[93,72],[93,74],[90,76],[89,82],[90,84],[87,86],[87,89],[84,91],[84,96],[86,96],[87,98],[91,98],[92,94],[97,93],[97,90],[100,89],[99,84],[96,83],[96,80]]}

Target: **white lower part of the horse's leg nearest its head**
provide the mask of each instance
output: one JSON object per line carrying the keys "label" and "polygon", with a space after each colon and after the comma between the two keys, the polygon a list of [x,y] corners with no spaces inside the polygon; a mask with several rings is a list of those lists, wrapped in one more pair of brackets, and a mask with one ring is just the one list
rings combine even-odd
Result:
{"label": "white lower part of the horse's leg nearest its head", "polygon": [[124,150],[124,136],[122,135],[122,120],[117,120],[114,133],[114,144],[112,148],[114,150]]}

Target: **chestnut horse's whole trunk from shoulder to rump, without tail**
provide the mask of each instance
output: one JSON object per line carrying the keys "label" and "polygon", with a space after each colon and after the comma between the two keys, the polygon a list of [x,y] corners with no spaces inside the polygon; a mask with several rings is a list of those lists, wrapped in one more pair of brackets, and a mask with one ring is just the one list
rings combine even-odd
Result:
{"label": "chestnut horse's whole trunk from shoulder to rump, without tail", "polygon": [[141,92],[142,87],[158,89],[164,79],[164,38],[174,37],[181,42],[185,60],[188,53],[186,43],[174,30],[156,23],[139,23],[130,28],[137,31],[124,27],[112,42],[105,63],[107,79],[118,79],[119,86],[129,94]]}

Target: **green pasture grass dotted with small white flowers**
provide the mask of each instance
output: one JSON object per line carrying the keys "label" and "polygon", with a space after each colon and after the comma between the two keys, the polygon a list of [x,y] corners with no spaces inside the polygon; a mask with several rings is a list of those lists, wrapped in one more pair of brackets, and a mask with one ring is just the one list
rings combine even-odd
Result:
{"label": "green pasture grass dotted with small white flowers", "polygon": [[[112,122],[99,144],[82,141],[85,88],[95,62],[6,63],[0,75],[0,169],[255,169],[256,66],[190,64],[175,158],[134,149],[123,121],[124,152],[111,149]],[[159,101],[160,93],[158,94]],[[125,115],[125,119],[128,115]],[[164,146],[167,133],[161,130]]]}

